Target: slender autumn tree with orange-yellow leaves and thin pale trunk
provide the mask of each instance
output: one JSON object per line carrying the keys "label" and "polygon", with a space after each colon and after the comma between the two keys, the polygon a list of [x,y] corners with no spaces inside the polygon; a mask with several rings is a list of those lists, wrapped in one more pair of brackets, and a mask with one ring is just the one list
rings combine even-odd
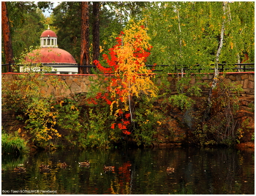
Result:
{"label": "slender autumn tree with orange-yellow leaves and thin pale trunk", "polygon": [[[128,112],[131,122],[134,119],[132,98],[139,98],[141,93],[148,97],[157,96],[157,87],[151,81],[151,70],[145,64],[151,50],[149,39],[143,22],[131,20],[116,38],[117,44],[110,48],[109,55],[103,55],[108,66],[102,66],[98,60],[94,60],[99,71],[114,74],[107,87],[110,93],[110,114],[118,117],[118,114]],[[125,130],[126,126],[120,125],[120,128]]]}

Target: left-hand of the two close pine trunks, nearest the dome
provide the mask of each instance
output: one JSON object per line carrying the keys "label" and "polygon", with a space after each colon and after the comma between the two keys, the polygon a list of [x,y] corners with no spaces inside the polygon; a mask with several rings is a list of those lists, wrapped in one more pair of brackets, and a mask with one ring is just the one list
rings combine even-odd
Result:
{"label": "left-hand of the two close pine trunks, nearest the dome", "polygon": [[[81,1],[81,55],[80,66],[89,66],[89,3]],[[80,74],[89,74],[89,67],[80,67]]]}

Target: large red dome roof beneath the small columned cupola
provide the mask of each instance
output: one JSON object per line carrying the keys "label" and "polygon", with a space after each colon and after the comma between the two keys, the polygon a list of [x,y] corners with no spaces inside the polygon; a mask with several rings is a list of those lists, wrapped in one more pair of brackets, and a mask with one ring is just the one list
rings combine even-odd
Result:
{"label": "large red dome roof beneath the small columned cupola", "polygon": [[39,48],[30,52],[26,58],[29,63],[75,63],[72,55],[57,47]]}

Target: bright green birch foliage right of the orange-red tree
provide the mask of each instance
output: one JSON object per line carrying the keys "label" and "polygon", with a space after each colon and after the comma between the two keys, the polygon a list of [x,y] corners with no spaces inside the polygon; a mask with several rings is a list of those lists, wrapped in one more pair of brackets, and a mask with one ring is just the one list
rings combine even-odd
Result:
{"label": "bright green birch foliage right of the orange-red tree", "polygon": [[[222,4],[215,1],[152,2],[143,10],[153,45],[148,64],[193,68],[200,64],[200,68],[214,68],[210,65],[215,63],[219,47]],[[245,54],[254,62],[254,10],[254,2],[227,3],[220,63],[237,63],[238,55],[243,61]]]}

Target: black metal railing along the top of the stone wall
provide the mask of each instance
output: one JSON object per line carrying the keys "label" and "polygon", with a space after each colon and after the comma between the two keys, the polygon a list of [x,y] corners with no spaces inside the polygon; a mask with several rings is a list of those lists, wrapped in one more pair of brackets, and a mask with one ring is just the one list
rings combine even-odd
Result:
{"label": "black metal railing along the top of the stone wall", "polygon": [[[8,63],[8,64],[1,64],[2,66],[2,73],[3,73],[3,66],[7,66],[6,71],[10,72],[11,71],[11,66],[15,65],[12,63]],[[232,66],[233,65],[233,66]],[[219,63],[218,64],[218,70],[219,72],[224,72],[226,70],[231,70],[232,72],[238,72],[238,71],[255,71],[255,63],[236,63],[236,64],[227,64],[227,63]],[[96,66],[80,66],[79,63],[78,65],[74,65],[74,66],[52,66],[52,65],[46,65],[49,67],[53,67],[53,68],[74,68],[77,67],[78,68],[78,74],[80,74],[80,68],[81,67],[85,67],[85,68],[96,68]],[[194,65],[194,67],[197,66],[198,68],[187,68],[188,66],[168,66],[168,65],[146,65],[146,67],[151,68],[152,71],[164,71],[163,69],[156,69],[156,68],[161,68],[161,67],[169,67],[168,71],[170,73],[186,73],[186,71],[188,70],[195,70],[198,71],[199,73],[203,70],[214,70],[214,68],[200,68],[200,65]],[[214,67],[214,64],[211,64],[212,67]],[[182,67],[182,68],[181,68]]]}

